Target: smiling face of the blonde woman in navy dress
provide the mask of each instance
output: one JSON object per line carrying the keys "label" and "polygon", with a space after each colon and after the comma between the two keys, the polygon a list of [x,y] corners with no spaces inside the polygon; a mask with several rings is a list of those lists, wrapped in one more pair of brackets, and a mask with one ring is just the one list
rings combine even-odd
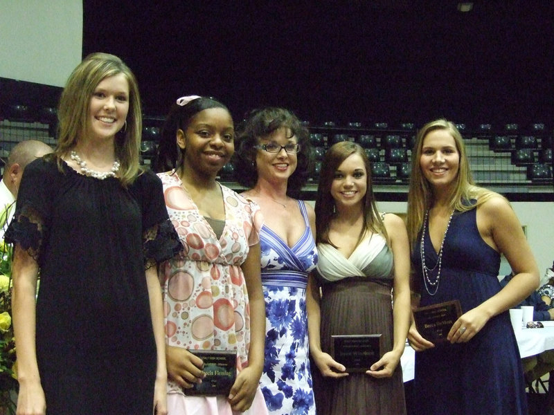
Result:
{"label": "smiling face of the blonde woman in navy dress", "polygon": [[460,168],[460,153],[454,137],[446,129],[436,129],[423,138],[420,168],[433,187],[454,183]]}

